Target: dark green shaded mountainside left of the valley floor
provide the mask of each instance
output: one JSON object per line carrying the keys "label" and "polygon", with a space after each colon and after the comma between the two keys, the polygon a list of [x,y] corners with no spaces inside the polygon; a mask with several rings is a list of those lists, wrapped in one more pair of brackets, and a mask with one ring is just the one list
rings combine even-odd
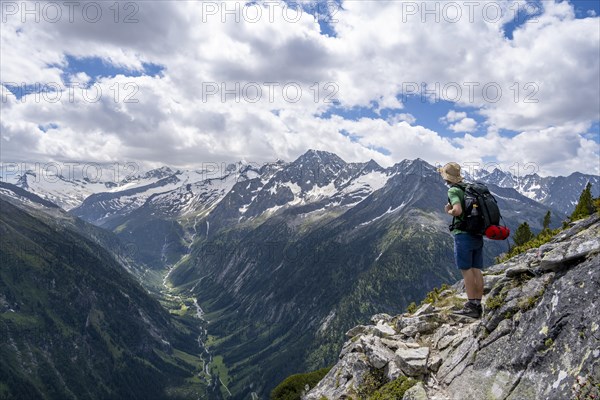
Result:
{"label": "dark green shaded mountainside left of the valley floor", "polygon": [[1,398],[214,398],[197,319],[127,272],[114,234],[10,184],[0,233]]}

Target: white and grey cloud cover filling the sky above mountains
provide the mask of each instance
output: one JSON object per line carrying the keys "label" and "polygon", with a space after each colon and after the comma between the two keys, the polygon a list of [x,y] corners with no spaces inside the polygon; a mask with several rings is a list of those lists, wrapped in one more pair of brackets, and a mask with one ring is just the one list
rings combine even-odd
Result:
{"label": "white and grey cloud cover filling the sky above mountains", "polygon": [[[541,2],[508,40],[504,24],[527,2],[493,3],[497,19],[484,16],[482,4],[470,13],[467,3],[453,2],[457,18],[444,2],[433,15],[419,9],[424,3],[410,3],[418,9],[346,1],[331,25],[335,36],[322,34],[309,13],[284,13],[284,3],[227,2],[234,10],[227,14],[224,3],[141,2],[120,5],[118,15],[113,3],[98,3],[104,8],[96,23],[81,9],[73,22],[66,11],[58,22],[3,15],[3,85],[94,81],[102,95],[90,101],[92,93],[64,88],[59,101],[19,100],[2,86],[2,158],[183,166],[289,160],[321,148],[385,165],[494,157],[530,160],[551,173],[598,172],[598,142],[586,137],[600,119],[598,17],[576,19],[566,1]],[[251,21],[259,9],[261,18]],[[124,72],[66,76],[67,56],[101,58]],[[162,66],[162,74],[127,76],[146,63]],[[462,136],[443,137],[414,126],[420,114],[407,107],[408,95],[472,107],[485,121],[450,110],[441,121]],[[387,120],[323,117],[334,104],[392,113]],[[40,129],[49,124],[56,128]],[[478,125],[487,133],[472,136]],[[519,133],[503,136],[506,130]]]}

